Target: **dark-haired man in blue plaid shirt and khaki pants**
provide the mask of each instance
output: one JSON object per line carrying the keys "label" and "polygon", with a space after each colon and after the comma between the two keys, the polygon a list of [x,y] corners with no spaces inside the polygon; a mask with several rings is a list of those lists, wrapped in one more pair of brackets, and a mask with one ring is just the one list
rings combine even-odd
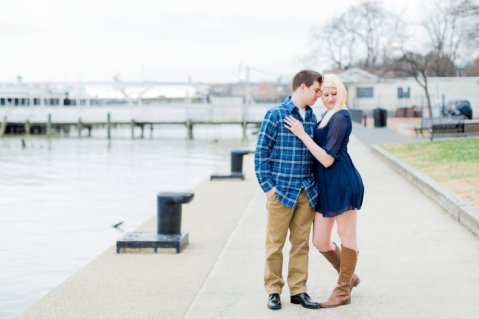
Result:
{"label": "dark-haired man in blue plaid shirt and khaki pants", "polygon": [[313,137],[316,116],[310,105],[321,97],[321,75],[311,70],[298,72],[291,81],[291,97],[266,112],[254,156],[255,172],[266,193],[266,263],[264,287],[268,308],[281,308],[280,294],[283,245],[289,228],[291,250],[287,282],[291,303],[319,308],[306,293],[308,279],[309,232],[314,219],[318,190],[311,171],[313,155],[299,138],[285,128],[286,116],[293,116]]}

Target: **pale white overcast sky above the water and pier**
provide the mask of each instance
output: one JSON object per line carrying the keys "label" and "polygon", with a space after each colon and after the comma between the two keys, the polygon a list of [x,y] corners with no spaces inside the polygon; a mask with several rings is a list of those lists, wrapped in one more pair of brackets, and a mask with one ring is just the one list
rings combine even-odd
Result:
{"label": "pale white overcast sky above the water and pier", "polygon": [[[272,74],[252,81],[290,78],[311,26],[358,2],[1,0],[0,82],[236,82],[239,63]],[[412,21],[423,0],[384,2]]]}

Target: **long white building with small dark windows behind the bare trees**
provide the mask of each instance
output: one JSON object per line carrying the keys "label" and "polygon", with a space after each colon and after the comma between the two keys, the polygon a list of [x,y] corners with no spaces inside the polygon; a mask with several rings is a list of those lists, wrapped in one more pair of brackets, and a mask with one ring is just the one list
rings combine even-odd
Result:
{"label": "long white building with small dark windows behind the bare trees", "polygon": [[[382,78],[358,67],[338,76],[348,91],[347,105],[352,109],[427,109],[424,89],[414,77]],[[427,81],[433,116],[440,116],[443,99],[445,104],[450,100],[466,99],[471,104],[473,117],[479,117],[479,77],[428,77]]]}

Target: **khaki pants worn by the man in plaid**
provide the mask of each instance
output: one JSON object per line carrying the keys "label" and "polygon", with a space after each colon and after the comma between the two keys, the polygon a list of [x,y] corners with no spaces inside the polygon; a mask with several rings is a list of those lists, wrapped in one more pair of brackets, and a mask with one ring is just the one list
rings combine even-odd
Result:
{"label": "khaki pants worn by the man in plaid", "polygon": [[309,205],[304,189],[301,189],[293,209],[283,205],[273,195],[266,201],[268,224],[266,226],[266,263],[264,287],[268,295],[281,294],[285,281],[282,276],[283,246],[290,230],[288,286],[291,296],[306,292],[308,280],[309,232],[314,219],[314,208]]}

